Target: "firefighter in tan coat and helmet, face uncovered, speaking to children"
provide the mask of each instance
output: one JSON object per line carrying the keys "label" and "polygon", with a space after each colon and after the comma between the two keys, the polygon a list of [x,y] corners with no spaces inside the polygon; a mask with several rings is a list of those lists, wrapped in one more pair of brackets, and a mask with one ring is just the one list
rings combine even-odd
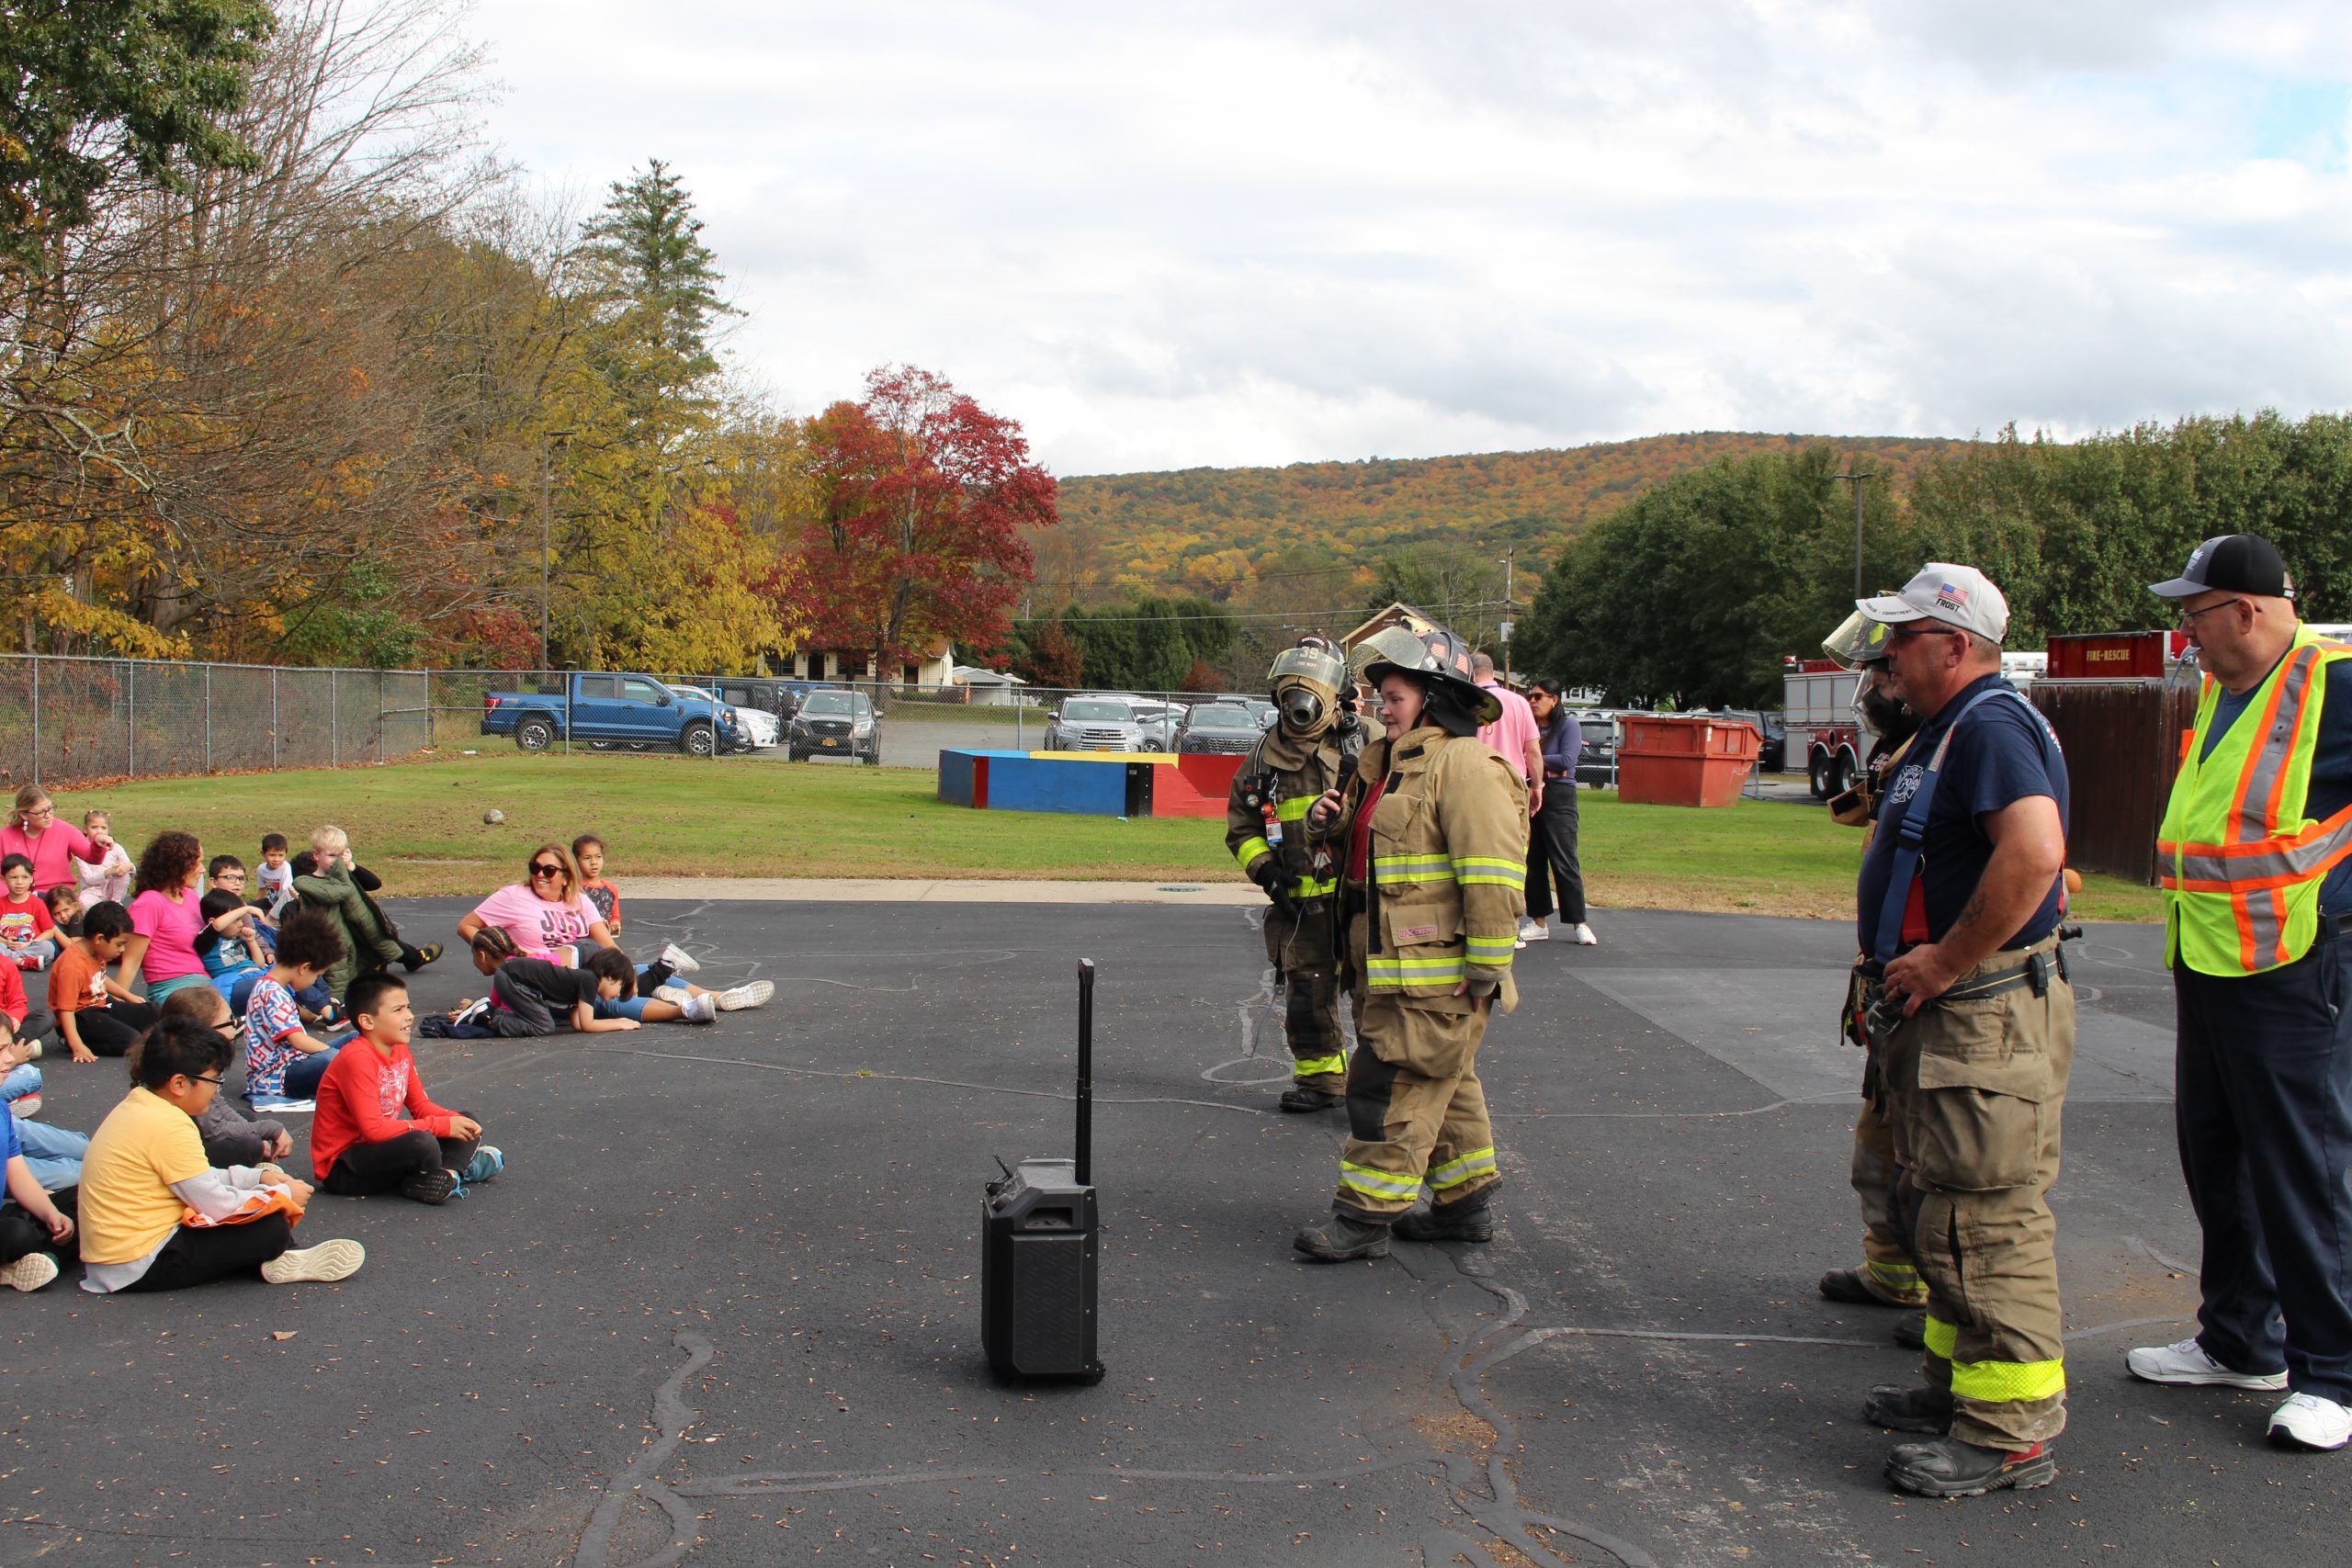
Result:
{"label": "firefighter in tan coat and helmet, face uncovered, speaking to children", "polygon": [[[1498,1180],[1477,1048],[1510,1011],[1526,907],[1526,788],[1477,738],[1501,712],[1454,632],[1414,623],[1357,649],[1385,736],[1345,790],[1308,811],[1341,867],[1341,978],[1355,1004],[1348,1147],[1315,1262],[1385,1258],[1406,1241],[1486,1241]],[[1428,1213],[1414,1213],[1428,1190]]]}

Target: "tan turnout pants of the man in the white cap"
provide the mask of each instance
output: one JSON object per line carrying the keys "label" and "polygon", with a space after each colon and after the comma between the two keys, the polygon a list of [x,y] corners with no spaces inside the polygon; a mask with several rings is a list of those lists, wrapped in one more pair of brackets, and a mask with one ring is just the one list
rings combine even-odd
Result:
{"label": "tan turnout pants of the man in the white cap", "polygon": [[[1997,952],[1955,985],[2056,954]],[[2074,1065],[2074,987],[2016,987],[1922,1009],[1886,1044],[1886,1121],[1926,1279],[1929,1385],[1952,1389],[1952,1436],[2030,1448],[2065,1429],[2058,1324],[2058,1121]]]}

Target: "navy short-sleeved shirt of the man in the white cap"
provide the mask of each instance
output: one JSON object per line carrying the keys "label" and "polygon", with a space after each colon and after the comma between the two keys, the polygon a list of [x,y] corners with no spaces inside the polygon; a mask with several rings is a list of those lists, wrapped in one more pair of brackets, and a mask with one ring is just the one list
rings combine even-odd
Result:
{"label": "navy short-sleeved shirt of the man in the white cap", "polygon": [[[1879,795],[1879,827],[1870,835],[1870,851],[1863,856],[1863,877],[1856,891],[1863,952],[1872,950],[1879,907],[1886,903],[1886,877],[1893,870],[1896,844],[1900,839],[1896,823],[1903,820],[1903,811],[1919,790],[1926,764],[1943,743],[1945,731],[1952,729],[1978,691],[1990,691],[1994,684],[2006,682],[1999,675],[1983,675],[1938,708],[1936,717],[1919,726],[1919,738],[1903,752],[1903,764],[1886,780],[1886,792]],[[1936,776],[1936,799],[1929,802],[1926,839],[1919,846],[1929,940],[1943,940],[1992,863],[1992,839],[1985,837],[1976,818],[2013,806],[2030,795],[2049,795],[2058,802],[2058,827],[2065,830],[2065,759],[2058,755],[2053,738],[2046,752],[2049,759],[2044,762],[2044,745],[2034,733],[2042,726],[2042,715],[2030,710],[2020,698],[1994,696],[1978,703],[1969,722],[1952,736],[1952,750],[1945,752],[1943,769]],[[2042,907],[2002,947],[2030,947],[2056,931],[2058,896],[2063,891],[2065,879],[2051,882]]]}

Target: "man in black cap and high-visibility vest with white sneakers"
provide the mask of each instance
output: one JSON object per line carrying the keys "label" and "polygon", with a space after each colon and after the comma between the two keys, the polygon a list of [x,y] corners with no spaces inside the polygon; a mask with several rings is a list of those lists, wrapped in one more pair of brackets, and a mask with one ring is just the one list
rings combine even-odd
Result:
{"label": "man in black cap and high-visibility vest with white sneakers", "polygon": [[2133,1378],[2291,1389],[2281,1448],[2352,1441],[2352,646],[2296,621],[2258,534],[2150,592],[2204,691],[2157,830],[2178,1046],[2173,1126],[2204,1227],[2197,1333]]}

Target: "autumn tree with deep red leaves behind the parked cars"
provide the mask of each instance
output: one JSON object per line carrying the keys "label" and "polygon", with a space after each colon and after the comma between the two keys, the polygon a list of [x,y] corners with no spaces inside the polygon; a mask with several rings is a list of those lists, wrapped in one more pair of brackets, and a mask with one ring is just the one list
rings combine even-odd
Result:
{"label": "autumn tree with deep red leaves behind the parked cars", "polygon": [[993,646],[1035,574],[1023,529],[1061,520],[1054,475],[1011,418],[910,364],[809,421],[816,512],[802,536],[809,646],[894,670],[941,639]]}

